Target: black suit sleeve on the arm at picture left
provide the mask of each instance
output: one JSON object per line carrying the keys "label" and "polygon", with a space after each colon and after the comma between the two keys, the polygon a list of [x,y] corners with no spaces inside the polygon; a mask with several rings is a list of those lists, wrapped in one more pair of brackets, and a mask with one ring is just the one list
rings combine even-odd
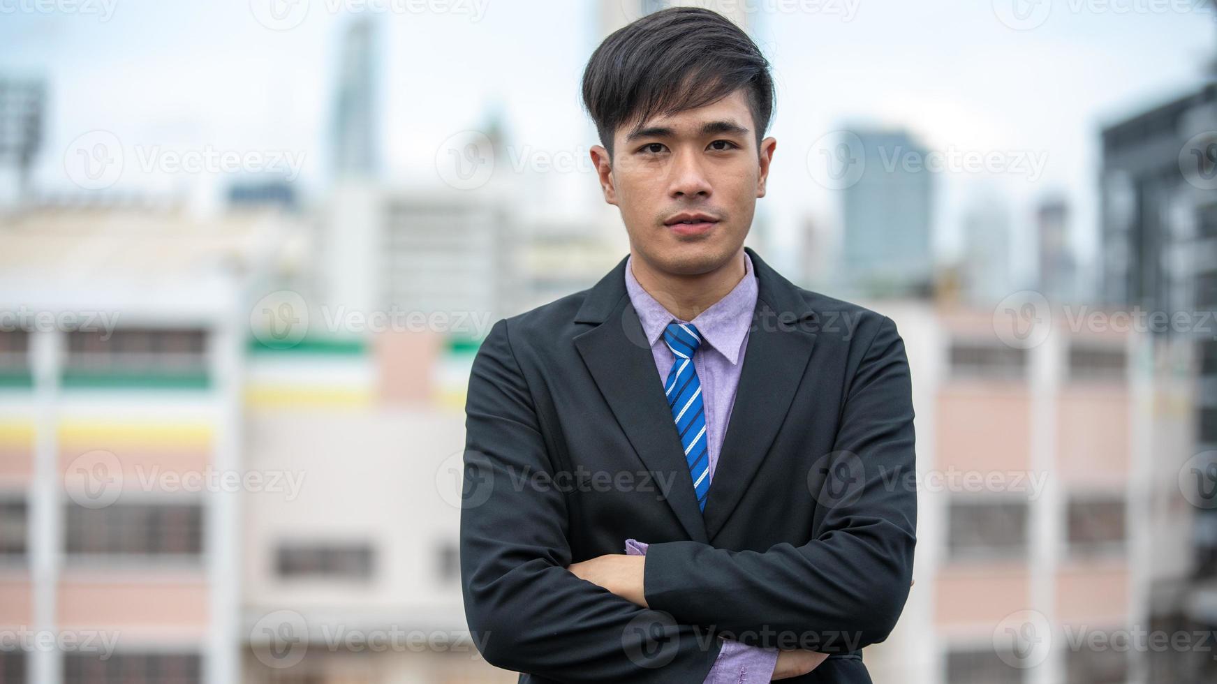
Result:
{"label": "black suit sleeve on the arm at picture left", "polygon": [[702,682],[719,639],[567,570],[566,494],[544,484],[555,467],[506,320],[475,357],[465,410],[461,590],[486,660],[571,683]]}

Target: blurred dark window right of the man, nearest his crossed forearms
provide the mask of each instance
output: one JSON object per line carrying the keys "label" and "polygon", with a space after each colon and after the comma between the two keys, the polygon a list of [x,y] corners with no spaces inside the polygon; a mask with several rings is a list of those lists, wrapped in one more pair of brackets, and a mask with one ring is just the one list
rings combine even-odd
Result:
{"label": "blurred dark window right of the man, nearest his crossed forearms", "polygon": [[952,501],[947,551],[953,560],[1023,557],[1026,501]]}

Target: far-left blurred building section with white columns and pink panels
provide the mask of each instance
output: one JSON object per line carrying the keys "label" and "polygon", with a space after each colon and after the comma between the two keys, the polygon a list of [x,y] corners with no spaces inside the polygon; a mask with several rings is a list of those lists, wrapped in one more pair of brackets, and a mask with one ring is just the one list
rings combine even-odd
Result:
{"label": "far-left blurred building section with white columns and pink panels", "polygon": [[242,494],[215,477],[279,228],[95,198],[0,220],[0,624],[75,640],[4,652],[6,680],[237,680]]}

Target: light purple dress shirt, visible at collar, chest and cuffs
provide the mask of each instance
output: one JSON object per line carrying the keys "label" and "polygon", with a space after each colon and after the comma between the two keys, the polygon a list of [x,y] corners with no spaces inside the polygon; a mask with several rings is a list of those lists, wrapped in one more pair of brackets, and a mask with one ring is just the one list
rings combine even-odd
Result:
{"label": "light purple dress shirt, visible at collar, chest and cuffs", "polygon": [[[744,363],[744,349],[748,342],[748,329],[752,326],[752,312],[757,304],[757,279],[752,270],[752,259],[744,254],[745,274],[725,297],[691,321],[679,319],[663,308],[634,277],[634,257],[626,260],[626,290],[629,301],[638,312],[643,332],[651,344],[655,368],[658,371],[657,382],[663,380],[675,363],[675,355],[663,343],[663,329],[669,323],[691,323],[697,327],[702,343],[694,352],[692,361],[701,382],[702,404],[706,410],[706,450],[710,456],[711,487],[714,482],[714,466],[727,433],[727,424],[731,419],[731,407],[735,403],[735,391],[740,385],[740,370]],[[646,544],[636,539],[626,540],[626,553],[632,556],[646,555]],[[770,682],[778,662],[778,649],[759,649],[724,639],[714,667],[706,675],[705,684],[755,684]]]}

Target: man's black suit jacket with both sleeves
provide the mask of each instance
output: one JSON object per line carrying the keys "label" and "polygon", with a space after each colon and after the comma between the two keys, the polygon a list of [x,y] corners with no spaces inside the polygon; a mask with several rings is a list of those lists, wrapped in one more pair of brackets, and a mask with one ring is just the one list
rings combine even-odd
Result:
{"label": "man's black suit jacket with both sleeves", "polygon": [[[466,403],[465,615],[528,683],[700,684],[718,637],[832,654],[790,679],[868,683],[909,593],[910,377],[891,319],[796,287],[758,299],[705,512],[623,258],[590,290],[494,324]],[[572,562],[650,543],[643,609]]]}

